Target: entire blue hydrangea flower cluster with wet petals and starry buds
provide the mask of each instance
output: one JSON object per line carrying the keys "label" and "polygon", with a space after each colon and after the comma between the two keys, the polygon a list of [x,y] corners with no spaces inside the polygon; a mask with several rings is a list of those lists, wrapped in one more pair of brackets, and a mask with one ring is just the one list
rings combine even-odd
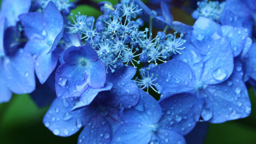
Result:
{"label": "entire blue hydrangea flower cluster with wet petals and starry buds", "polygon": [[12,92],[52,102],[43,122],[54,135],[83,128],[81,144],[185,144],[201,121],[250,115],[255,0],[198,2],[193,26],[174,21],[163,1],[160,10],[101,2],[96,19],[70,13],[69,0],[22,3],[2,3],[0,102]]}

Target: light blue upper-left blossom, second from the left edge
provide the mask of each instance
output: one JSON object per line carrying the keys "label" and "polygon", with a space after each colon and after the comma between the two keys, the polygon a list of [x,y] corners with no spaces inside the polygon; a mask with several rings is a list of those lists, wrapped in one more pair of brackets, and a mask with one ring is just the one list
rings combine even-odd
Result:
{"label": "light blue upper-left blossom, second from the left edge", "polygon": [[52,51],[63,35],[63,17],[50,1],[43,13],[29,12],[19,18],[29,39],[24,49],[35,56],[35,73],[43,84],[58,62]]}

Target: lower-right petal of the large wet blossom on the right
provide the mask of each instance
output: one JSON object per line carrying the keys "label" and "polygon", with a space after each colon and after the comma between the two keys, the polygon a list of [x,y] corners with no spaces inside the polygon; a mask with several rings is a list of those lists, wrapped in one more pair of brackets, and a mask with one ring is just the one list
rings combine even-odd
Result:
{"label": "lower-right petal of the large wet blossom on the right", "polygon": [[205,121],[223,123],[250,115],[247,88],[236,72],[227,81],[203,89],[201,97],[205,100],[202,112]]}

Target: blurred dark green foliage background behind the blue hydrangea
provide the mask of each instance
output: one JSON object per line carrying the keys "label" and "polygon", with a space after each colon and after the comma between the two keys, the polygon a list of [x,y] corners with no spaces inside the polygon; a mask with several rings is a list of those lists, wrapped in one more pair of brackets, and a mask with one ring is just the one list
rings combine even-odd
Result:
{"label": "blurred dark green foliage background behind the blue hydrangea", "polygon": [[[113,5],[118,2],[108,1]],[[78,6],[72,12],[94,17],[102,14],[87,5]],[[193,25],[195,21],[180,9],[172,9],[172,14],[174,20],[189,25]],[[204,144],[256,144],[256,96],[252,87],[249,89],[249,95],[252,104],[251,115],[223,124],[209,124],[207,133],[198,130],[198,135],[206,135]],[[44,126],[42,119],[48,108],[49,106],[38,108],[29,95],[13,95],[11,101],[0,104],[0,144],[76,144],[80,132],[70,137],[59,137]],[[188,141],[188,144],[190,143],[191,141]]]}

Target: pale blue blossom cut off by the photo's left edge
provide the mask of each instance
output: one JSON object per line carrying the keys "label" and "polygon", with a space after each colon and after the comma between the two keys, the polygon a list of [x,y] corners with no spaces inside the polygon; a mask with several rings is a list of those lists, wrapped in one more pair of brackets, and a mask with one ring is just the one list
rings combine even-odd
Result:
{"label": "pale blue blossom cut off by the photo's left edge", "polygon": [[12,92],[24,94],[35,89],[33,58],[20,47],[20,33],[15,27],[18,15],[28,12],[30,4],[30,0],[3,0],[1,5],[0,103],[9,101]]}

